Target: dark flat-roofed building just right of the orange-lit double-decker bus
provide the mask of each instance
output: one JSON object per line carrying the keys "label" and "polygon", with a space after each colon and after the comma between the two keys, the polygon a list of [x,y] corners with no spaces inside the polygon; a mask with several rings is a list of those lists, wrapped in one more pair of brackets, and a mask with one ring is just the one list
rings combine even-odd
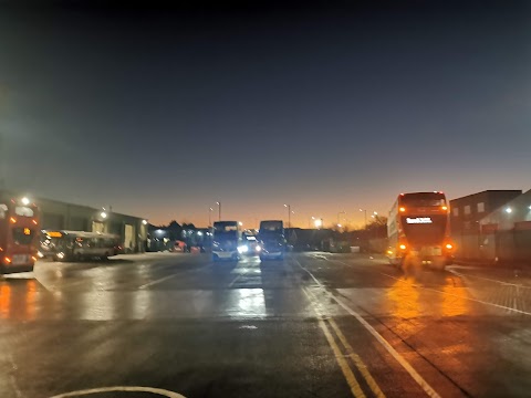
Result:
{"label": "dark flat-roofed building just right of the orange-lit double-decker bus", "polygon": [[[521,190],[486,190],[450,200],[451,237],[456,259],[494,261],[497,255],[485,245],[483,220],[522,196]],[[492,238],[490,244],[492,243]]]}

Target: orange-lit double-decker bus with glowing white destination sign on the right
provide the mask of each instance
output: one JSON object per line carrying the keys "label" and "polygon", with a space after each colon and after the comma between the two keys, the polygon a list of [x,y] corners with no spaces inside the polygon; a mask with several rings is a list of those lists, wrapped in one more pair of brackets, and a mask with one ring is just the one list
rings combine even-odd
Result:
{"label": "orange-lit double-decker bus with glowing white destination sign on the right", "polygon": [[402,266],[406,259],[440,270],[451,264],[454,243],[445,193],[400,193],[389,211],[387,237],[387,256],[394,265]]}

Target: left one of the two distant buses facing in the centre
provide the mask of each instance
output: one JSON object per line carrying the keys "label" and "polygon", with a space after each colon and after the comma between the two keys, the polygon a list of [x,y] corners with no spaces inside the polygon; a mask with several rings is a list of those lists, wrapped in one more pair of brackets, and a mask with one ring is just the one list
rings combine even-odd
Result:
{"label": "left one of the two distant buses facing in the centre", "polygon": [[244,244],[238,221],[216,221],[212,227],[212,260],[240,259]]}

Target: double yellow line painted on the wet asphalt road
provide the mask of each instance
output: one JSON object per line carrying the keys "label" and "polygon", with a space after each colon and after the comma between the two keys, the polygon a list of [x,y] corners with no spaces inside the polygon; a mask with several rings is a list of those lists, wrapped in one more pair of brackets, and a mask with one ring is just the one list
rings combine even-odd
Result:
{"label": "double yellow line painted on the wet asphalt road", "polygon": [[[340,365],[341,371],[343,373],[343,376],[345,377],[345,380],[348,384],[348,387],[351,388],[352,395],[354,397],[366,397],[347,359],[351,359],[352,364],[355,366],[355,368],[362,375],[367,386],[371,388],[371,391],[373,392],[373,395],[375,397],[384,398],[385,394],[382,391],[377,383],[374,380],[373,376],[368,371],[362,358],[360,358],[360,356],[356,353],[354,353],[354,349],[348,344],[345,335],[343,334],[343,332],[341,332],[335,321],[332,318],[325,318],[323,316],[323,314],[319,308],[317,300],[310,290],[303,289],[303,291],[313,305],[313,310],[317,315],[319,326],[323,331],[324,336],[326,337],[326,341],[329,342],[329,345],[332,348],[332,352],[334,353],[335,360],[337,362],[337,365]],[[341,346],[343,347],[345,354],[343,354],[343,352],[340,348],[340,345],[336,343],[336,339],[334,338],[334,334],[339,339],[339,342],[341,343]]]}

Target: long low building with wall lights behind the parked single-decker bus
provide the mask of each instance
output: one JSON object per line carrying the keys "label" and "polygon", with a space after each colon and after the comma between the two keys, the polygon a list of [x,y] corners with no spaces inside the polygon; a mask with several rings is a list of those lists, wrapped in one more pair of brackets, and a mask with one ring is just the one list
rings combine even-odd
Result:
{"label": "long low building with wall lights behind the parked single-decker bus", "polygon": [[[1,190],[0,197],[20,198],[23,193]],[[119,237],[125,253],[146,251],[147,221],[139,217],[121,214],[111,209],[66,203],[45,198],[31,198],[39,207],[40,228],[107,232]]]}

